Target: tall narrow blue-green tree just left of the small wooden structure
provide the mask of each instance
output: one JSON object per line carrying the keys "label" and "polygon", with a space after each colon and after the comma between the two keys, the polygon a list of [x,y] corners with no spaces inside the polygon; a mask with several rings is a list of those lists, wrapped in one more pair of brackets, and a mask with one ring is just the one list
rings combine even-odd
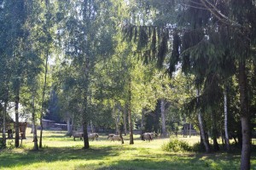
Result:
{"label": "tall narrow blue-green tree just left of the small wooden structure", "polygon": [[15,147],[19,147],[19,103],[20,103],[20,88],[24,79],[26,69],[26,54],[24,42],[26,39],[26,30],[24,25],[26,22],[26,3],[23,0],[9,1],[6,8],[9,9],[9,20],[11,20],[10,41],[12,49],[10,56],[14,59],[11,67],[13,71],[12,84],[15,94]]}

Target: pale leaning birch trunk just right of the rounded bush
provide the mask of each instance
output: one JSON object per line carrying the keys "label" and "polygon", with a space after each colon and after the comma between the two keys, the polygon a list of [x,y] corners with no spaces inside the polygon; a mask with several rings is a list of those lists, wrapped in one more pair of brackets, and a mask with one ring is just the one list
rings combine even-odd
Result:
{"label": "pale leaning birch trunk just right of the rounded bush", "polygon": [[[199,104],[199,99],[198,99],[199,98],[199,89],[197,88],[195,91],[196,91],[196,97],[197,97],[197,105],[200,105]],[[197,114],[198,114],[198,122],[199,122],[199,127],[200,127],[200,132],[201,132],[201,139],[203,141],[203,144],[205,146],[205,149],[206,149],[207,153],[209,153],[210,152],[210,146],[207,142],[207,137],[206,137],[206,133],[205,133],[205,129],[204,129],[200,109],[198,109]]]}

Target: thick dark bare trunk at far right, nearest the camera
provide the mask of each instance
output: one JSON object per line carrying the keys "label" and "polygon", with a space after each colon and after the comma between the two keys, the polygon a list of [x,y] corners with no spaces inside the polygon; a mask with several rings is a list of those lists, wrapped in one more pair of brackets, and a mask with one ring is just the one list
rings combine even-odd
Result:
{"label": "thick dark bare trunk at far right, nearest the camera", "polygon": [[247,75],[246,75],[246,61],[239,61],[239,92],[240,92],[240,108],[241,108],[241,169],[250,169],[250,121],[248,111],[248,98],[247,98]]}

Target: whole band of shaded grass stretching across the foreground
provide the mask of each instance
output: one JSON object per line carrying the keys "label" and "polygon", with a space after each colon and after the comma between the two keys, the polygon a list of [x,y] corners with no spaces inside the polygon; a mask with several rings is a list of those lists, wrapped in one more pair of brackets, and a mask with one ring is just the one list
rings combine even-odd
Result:
{"label": "whole band of shaded grass stretching across the foreground", "polygon": [[[128,159],[124,151],[137,150]],[[79,147],[48,147],[40,151],[32,150],[2,150],[0,152],[0,168],[26,167],[39,162],[96,160],[95,164],[75,165],[75,169],[239,169],[240,154],[225,153],[154,153],[146,148],[120,147],[120,145],[92,147],[83,150]],[[118,158],[111,160],[113,156]],[[109,159],[105,159],[105,158]],[[256,160],[253,151],[252,160]],[[108,160],[107,163],[105,161]],[[85,167],[86,166],[86,167]],[[252,169],[256,166],[254,161]]]}

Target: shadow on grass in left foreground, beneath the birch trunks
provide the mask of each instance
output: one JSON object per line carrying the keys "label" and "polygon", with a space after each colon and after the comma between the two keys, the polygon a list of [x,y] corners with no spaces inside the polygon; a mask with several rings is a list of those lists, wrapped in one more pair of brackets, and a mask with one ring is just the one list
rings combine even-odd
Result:
{"label": "shadow on grass in left foreground, beneath the birch trunks", "polygon": [[[113,154],[113,147],[97,147],[96,149],[84,150],[79,147],[58,147],[44,148],[43,150],[24,150],[15,152],[12,150],[3,150],[0,153],[0,167],[19,167],[37,162],[54,162],[70,160],[100,160],[105,156]],[[116,153],[115,155],[117,155]]]}

